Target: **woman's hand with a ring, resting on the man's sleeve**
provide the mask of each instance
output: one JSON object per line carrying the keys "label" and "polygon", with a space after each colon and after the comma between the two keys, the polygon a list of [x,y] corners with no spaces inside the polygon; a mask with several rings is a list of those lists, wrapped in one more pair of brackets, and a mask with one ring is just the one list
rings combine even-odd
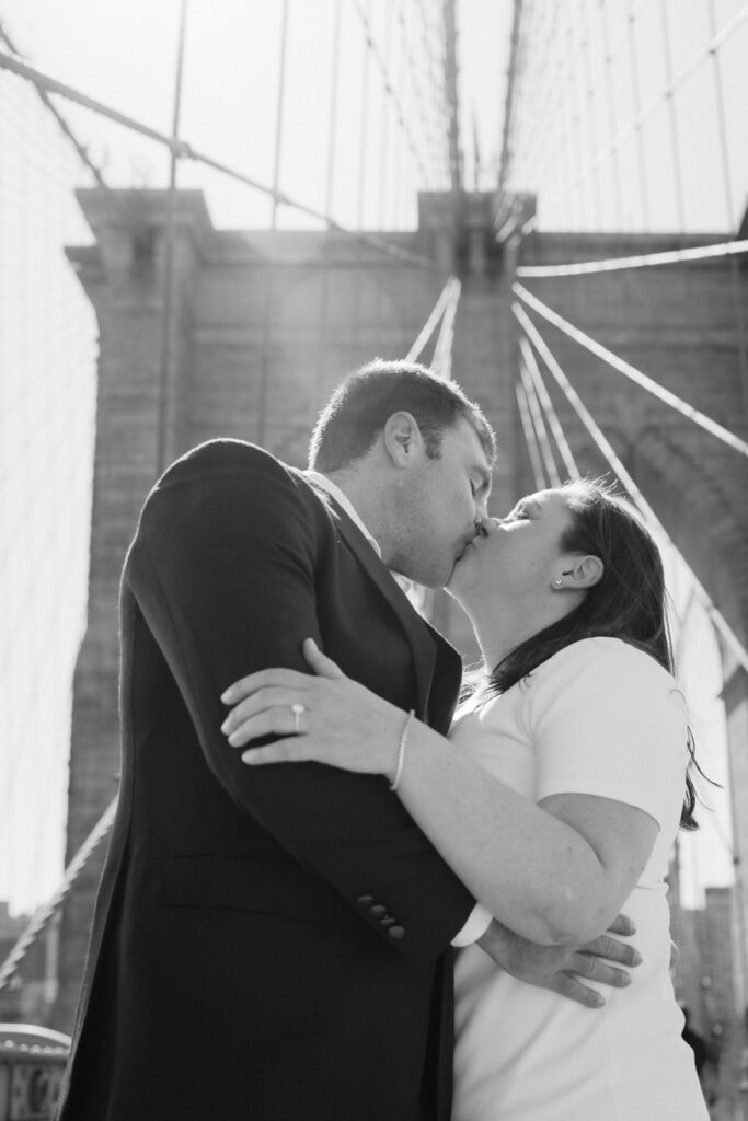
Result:
{"label": "woman's hand with a ring, resting on the man's sleeve", "polygon": [[221,697],[232,706],[221,725],[229,743],[243,748],[251,740],[280,735],[275,743],[244,751],[242,761],[315,761],[391,778],[403,711],[345,677],[313,639],[305,639],[303,649],[314,676],[261,669],[229,686]]}

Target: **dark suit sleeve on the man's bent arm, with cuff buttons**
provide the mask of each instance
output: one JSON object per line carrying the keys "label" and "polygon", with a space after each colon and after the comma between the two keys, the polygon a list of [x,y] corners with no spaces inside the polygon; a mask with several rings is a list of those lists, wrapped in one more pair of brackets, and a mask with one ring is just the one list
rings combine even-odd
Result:
{"label": "dark suit sleeve on the man's bent arm, with cuff buttons", "polygon": [[[394,949],[427,965],[462,927],[473,899],[386,781],[317,763],[250,768],[221,732],[220,696],[231,682],[267,666],[308,670],[302,641],[321,642],[320,529],[293,478],[270,456],[247,450],[241,469],[197,466],[183,461],[149,498],[124,578],[207,765],[242,812],[327,880]],[[380,924],[376,904],[394,924]]]}

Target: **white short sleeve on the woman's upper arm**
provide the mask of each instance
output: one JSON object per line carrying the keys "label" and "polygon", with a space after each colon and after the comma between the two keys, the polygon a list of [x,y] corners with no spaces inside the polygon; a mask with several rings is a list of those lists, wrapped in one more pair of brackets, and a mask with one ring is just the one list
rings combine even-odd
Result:
{"label": "white short sleeve on the woman's upper arm", "polygon": [[669,824],[685,789],[687,726],[665,669],[620,639],[584,639],[544,663],[526,689],[538,802],[597,795]]}

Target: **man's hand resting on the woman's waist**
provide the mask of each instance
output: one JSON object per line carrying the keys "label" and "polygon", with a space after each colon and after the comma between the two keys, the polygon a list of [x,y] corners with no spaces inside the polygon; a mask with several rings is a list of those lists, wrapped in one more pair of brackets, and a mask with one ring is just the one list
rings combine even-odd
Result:
{"label": "man's hand resting on the woman's waist", "polygon": [[641,955],[634,946],[611,938],[610,935],[627,937],[634,933],[631,920],[619,915],[606,934],[585,946],[538,946],[492,919],[486,934],[478,939],[478,945],[518,981],[551,989],[585,1008],[601,1008],[606,1002],[604,998],[584,984],[583,980],[616,989],[630,984],[630,974],[610,962],[631,969],[640,963]]}

